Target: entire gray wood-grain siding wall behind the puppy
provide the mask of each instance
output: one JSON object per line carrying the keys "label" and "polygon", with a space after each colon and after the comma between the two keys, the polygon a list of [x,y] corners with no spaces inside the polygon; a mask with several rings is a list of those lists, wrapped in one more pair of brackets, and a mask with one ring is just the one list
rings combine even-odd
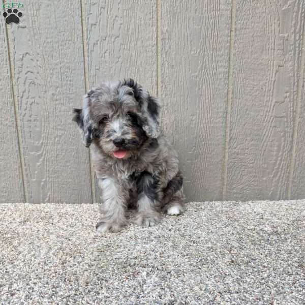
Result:
{"label": "entire gray wood-grain siding wall behind the puppy", "polygon": [[132,77],[163,102],[188,200],[305,198],[303,0],[25,3],[0,22],[0,202],[99,202],[71,121]]}

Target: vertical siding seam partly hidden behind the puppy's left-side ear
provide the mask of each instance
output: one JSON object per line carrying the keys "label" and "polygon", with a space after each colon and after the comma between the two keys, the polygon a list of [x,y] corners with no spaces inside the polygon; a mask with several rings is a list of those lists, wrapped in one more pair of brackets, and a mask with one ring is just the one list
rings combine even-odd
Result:
{"label": "vertical siding seam partly hidden behind the puppy's left-side ear", "polygon": [[[83,0],[80,0],[80,17],[81,17],[81,31],[82,31],[82,45],[83,45],[83,64],[84,64],[84,81],[85,81],[85,90],[86,93],[89,89],[89,78],[88,78],[88,53],[86,48],[87,35],[84,22],[84,3]],[[96,199],[95,191],[95,178],[94,178],[94,168],[92,164],[92,158],[90,154],[90,149],[88,149],[89,156],[89,174],[90,174],[90,185],[91,185],[91,202],[94,203]]]}

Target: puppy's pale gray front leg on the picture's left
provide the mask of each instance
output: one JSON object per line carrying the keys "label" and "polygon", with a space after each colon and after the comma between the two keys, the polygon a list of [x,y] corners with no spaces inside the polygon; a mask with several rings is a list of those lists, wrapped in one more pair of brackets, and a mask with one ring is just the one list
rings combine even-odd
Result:
{"label": "puppy's pale gray front leg on the picture's left", "polygon": [[99,187],[102,190],[103,216],[96,228],[101,233],[117,232],[126,225],[125,209],[128,197],[113,178],[99,179]]}

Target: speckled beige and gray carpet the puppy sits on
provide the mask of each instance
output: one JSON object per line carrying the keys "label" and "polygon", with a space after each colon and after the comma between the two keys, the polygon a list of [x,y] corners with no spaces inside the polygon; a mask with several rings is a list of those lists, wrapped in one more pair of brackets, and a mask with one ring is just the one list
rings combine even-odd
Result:
{"label": "speckled beige and gray carpet the puppy sits on", "polygon": [[97,205],[0,217],[1,304],[305,304],[305,200],[189,203],[108,235]]}

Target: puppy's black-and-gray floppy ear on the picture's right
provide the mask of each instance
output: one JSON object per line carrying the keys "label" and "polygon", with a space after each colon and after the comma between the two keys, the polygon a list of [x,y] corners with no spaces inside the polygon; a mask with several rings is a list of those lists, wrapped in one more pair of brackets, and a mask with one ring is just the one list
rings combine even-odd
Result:
{"label": "puppy's black-and-gray floppy ear on the picture's right", "polygon": [[141,125],[146,135],[149,138],[158,138],[160,135],[159,113],[161,109],[159,100],[151,97],[149,93],[133,79],[124,80],[124,85],[133,88],[134,97],[139,102],[141,108]]}

